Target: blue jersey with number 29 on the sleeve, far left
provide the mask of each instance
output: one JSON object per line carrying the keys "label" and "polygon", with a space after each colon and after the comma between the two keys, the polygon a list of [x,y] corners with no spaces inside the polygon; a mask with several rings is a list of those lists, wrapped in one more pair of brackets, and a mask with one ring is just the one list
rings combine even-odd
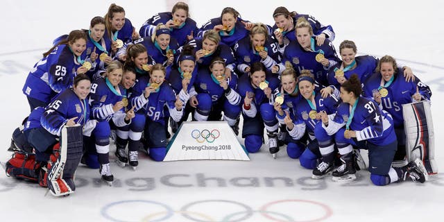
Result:
{"label": "blue jersey with number 29 on the sleeve, far left", "polygon": [[22,89],[28,98],[41,103],[34,107],[30,104],[31,110],[47,105],[56,94],[71,87],[76,71],[81,65],[66,44],[57,46],[48,56],[37,62],[29,72]]}

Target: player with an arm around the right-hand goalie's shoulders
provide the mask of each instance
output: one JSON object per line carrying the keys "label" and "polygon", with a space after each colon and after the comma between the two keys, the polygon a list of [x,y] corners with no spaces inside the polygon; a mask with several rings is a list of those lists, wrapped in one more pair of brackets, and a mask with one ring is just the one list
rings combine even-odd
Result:
{"label": "player with an arm around the right-hand goalie's shoulders", "polygon": [[[327,74],[328,83],[337,89],[348,80],[352,74],[357,74],[361,83],[375,73],[379,59],[373,56],[356,56],[357,47],[355,42],[344,40],[339,45],[339,54],[342,61],[332,66]],[[407,66],[402,67],[407,81],[413,79],[413,72]]]}

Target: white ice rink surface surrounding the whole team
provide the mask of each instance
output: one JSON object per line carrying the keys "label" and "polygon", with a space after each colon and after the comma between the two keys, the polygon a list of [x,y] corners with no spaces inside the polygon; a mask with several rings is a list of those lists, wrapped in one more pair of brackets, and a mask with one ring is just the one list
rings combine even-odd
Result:
{"label": "white ice rink surface surrounding the whole team", "polygon": [[[29,113],[22,87],[28,71],[54,38],[105,15],[110,3],[123,6],[133,26],[157,12],[171,11],[176,1],[3,1],[0,51],[0,161],[10,137]],[[359,54],[395,57],[432,89],[435,159],[444,170],[444,7],[443,1],[186,1],[200,27],[219,17],[224,7],[237,9],[251,22],[273,24],[273,10],[286,6],[330,24],[334,46],[353,40]],[[243,139],[239,137],[243,144]],[[335,183],[311,180],[311,171],[281,148],[273,160],[268,146],[250,154],[249,162],[154,162],[139,155],[137,171],[110,160],[114,186],[101,182],[96,169],[80,164],[77,189],[56,198],[36,184],[0,173],[0,221],[441,221],[444,176],[425,184],[411,180],[376,187],[370,173]]]}

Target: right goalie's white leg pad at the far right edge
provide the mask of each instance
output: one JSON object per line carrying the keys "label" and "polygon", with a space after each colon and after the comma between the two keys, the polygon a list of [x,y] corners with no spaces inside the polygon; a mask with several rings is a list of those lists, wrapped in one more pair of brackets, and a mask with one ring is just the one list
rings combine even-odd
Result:
{"label": "right goalie's white leg pad at the far right edge", "polygon": [[409,162],[419,158],[429,175],[438,173],[434,160],[435,142],[430,101],[402,105],[406,149]]}

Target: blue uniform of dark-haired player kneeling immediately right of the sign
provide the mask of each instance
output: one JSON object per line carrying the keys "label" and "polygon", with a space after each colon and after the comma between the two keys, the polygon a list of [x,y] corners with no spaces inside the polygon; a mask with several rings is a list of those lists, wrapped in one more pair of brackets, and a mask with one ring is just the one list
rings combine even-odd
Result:
{"label": "blue uniform of dark-haired player kneeling immediately right of the sign", "polygon": [[[270,87],[272,91],[280,85],[279,79],[272,74],[266,74],[266,81],[268,81],[268,87]],[[242,137],[246,138],[245,146],[247,151],[256,153],[262,146],[264,124],[267,130],[270,129],[269,131],[278,130],[278,120],[275,117],[275,109],[264,94],[264,91],[259,87],[255,88],[251,85],[251,78],[248,75],[239,78],[237,91],[243,98],[241,104],[244,103],[246,92],[254,93],[250,110],[243,110],[242,112],[242,116],[244,117]],[[255,109],[255,111],[253,109]]]}

